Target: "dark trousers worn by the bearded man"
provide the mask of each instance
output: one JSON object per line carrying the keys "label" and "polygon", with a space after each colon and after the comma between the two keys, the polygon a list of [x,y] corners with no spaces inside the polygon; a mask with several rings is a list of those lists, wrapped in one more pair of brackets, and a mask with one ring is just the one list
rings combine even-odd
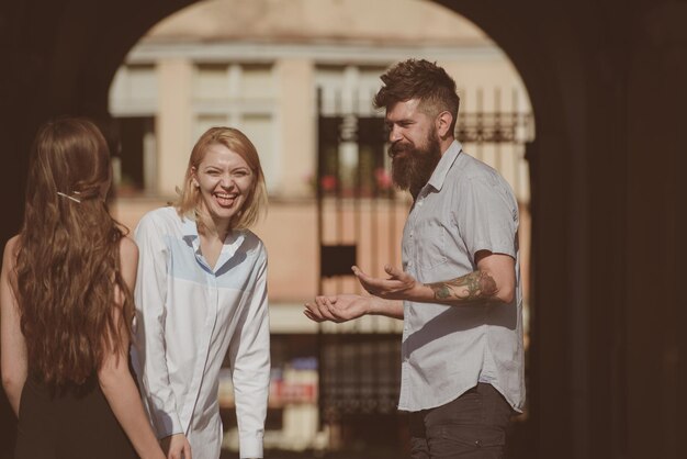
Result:
{"label": "dark trousers worn by the bearded man", "polygon": [[492,384],[478,383],[446,405],[410,413],[410,457],[502,459],[511,414]]}

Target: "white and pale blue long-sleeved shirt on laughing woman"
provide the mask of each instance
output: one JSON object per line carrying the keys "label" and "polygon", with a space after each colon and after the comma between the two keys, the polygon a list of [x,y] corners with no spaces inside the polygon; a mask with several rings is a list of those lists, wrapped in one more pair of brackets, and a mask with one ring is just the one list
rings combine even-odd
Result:
{"label": "white and pale blue long-sleeved shirt on laughing woman", "polygon": [[228,350],[240,457],[262,457],[270,382],[264,245],[250,231],[234,231],[213,269],[195,222],[173,208],[147,213],[135,238],[132,362],[158,438],[184,433],[194,458],[219,457],[218,373]]}

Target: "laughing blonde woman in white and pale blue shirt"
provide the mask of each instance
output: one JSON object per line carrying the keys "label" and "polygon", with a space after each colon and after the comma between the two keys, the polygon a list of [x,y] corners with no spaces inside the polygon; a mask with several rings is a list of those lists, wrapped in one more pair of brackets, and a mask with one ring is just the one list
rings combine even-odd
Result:
{"label": "laughing blonde woman in white and pale blue shirt", "polygon": [[262,457],[270,379],[267,254],[248,227],[266,204],[239,131],[198,141],[179,201],[144,215],[133,363],[168,457],[219,457],[218,376],[229,361],[241,458]]}

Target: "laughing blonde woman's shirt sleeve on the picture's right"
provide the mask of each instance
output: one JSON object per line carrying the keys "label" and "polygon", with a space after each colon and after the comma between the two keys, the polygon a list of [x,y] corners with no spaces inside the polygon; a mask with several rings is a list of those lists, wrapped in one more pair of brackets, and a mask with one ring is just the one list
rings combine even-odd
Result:
{"label": "laughing blonde woman's shirt sleeve on the picture's right", "polygon": [[257,276],[248,309],[229,345],[241,458],[262,457],[270,385],[267,254],[262,245],[255,269]]}

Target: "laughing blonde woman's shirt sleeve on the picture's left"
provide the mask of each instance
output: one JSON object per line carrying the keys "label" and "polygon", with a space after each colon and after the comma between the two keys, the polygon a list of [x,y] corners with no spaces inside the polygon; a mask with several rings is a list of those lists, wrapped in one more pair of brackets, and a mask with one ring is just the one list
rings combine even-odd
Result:
{"label": "laughing blonde woman's shirt sleeve on the picture's left", "polygon": [[[183,433],[166,360],[165,318],[169,250],[165,234],[150,215],[135,231],[138,245],[134,367],[158,438]],[[136,368],[137,367],[137,368]]]}

